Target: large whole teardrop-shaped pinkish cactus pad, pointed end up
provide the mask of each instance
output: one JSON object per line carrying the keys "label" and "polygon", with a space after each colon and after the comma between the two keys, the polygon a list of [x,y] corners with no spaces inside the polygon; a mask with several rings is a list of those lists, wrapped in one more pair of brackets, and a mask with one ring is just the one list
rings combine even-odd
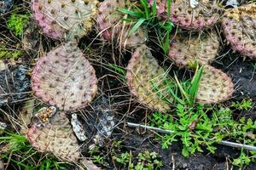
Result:
{"label": "large whole teardrop-shaped pinkish cactus pad, pointed end up", "polygon": [[32,90],[48,105],[73,111],[90,104],[97,90],[94,68],[76,42],[67,42],[38,60]]}

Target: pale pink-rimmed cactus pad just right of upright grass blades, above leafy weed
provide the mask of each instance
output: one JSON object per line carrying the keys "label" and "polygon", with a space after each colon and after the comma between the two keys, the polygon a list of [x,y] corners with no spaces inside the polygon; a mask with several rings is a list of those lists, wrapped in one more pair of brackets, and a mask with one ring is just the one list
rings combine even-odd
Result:
{"label": "pale pink-rimmed cactus pad just right of upright grass blades, above leafy weed", "polygon": [[219,103],[229,99],[233,92],[234,85],[230,77],[210,65],[204,66],[196,97],[199,103]]}

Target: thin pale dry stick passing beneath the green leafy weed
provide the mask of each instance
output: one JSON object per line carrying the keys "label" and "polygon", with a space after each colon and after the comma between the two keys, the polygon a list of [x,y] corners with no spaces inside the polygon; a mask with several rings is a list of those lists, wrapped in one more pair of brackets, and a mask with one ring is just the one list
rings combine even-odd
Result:
{"label": "thin pale dry stick passing beneath the green leafy weed", "polygon": [[[133,123],[133,122],[127,122],[128,127],[143,127],[149,130],[154,130],[156,132],[160,132],[160,133],[175,133],[172,130],[165,130],[165,129],[161,129],[158,127],[149,127],[146,125],[141,125],[141,124],[137,124],[137,123]],[[256,147],[252,146],[252,145],[247,145],[247,144],[238,144],[235,142],[229,142],[226,140],[221,140],[220,142],[218,142],[218,144],[222,144],[222,145],[226,145],[226,146],[230,146],[230,147],[234,147],[234,148],[244,148],[246,150],[253,150],[256,151]]]}

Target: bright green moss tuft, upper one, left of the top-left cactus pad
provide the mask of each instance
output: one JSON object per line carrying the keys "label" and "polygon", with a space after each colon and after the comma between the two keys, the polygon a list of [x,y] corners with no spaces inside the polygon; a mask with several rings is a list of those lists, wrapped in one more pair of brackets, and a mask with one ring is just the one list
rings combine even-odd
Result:
{"label": "bright green moss tuft, upper one, left of the top-left cactus pad", "polygon": [[9,20],[7,21],[7,26],[10,31],[13,31],[16,37],[21,37],[23,33],[23,28],[29,18],[29,14],[11,14]]}

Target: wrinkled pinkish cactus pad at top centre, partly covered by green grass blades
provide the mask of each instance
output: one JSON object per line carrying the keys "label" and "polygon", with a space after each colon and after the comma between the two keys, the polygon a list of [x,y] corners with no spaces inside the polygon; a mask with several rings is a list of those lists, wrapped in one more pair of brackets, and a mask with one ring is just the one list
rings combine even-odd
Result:
{"label": "wrinkled pinkish cactus pad at top centre, partly covered by green grass blades", "polygon": [[125,0],[105,0],[99,7],[97,23],[102,37],[112,42],[118,42],[119,46],[124,48],[136,48],[147,40],[147,31],[139,27],[137,31],[130,34],[133,23],[123,21],[124,14],[118,11],[118,8],[125,8],[131,4]]}

